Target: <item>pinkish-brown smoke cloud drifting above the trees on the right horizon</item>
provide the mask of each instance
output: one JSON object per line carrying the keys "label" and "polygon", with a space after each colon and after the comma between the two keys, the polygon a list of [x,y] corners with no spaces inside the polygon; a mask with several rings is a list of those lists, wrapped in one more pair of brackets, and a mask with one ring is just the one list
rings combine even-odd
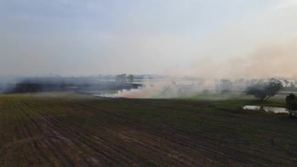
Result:
{"label": "pinkish-brown smoke cloud drifting above the trees on the right horizon", "polygon": [[201,59],[191,69],[195,76],[213,78],[297,77],[297,41],[286,45],[260,45],[243,57],[215,62]]}

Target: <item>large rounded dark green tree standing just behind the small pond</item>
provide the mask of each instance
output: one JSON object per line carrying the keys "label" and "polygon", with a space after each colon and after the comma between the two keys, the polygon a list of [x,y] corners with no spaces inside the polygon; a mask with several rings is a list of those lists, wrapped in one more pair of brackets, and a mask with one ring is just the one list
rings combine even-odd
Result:
{"label": "large rounded dark green tree standing just behind the small pond", "polygon": [[259,101],[267,101],[269,98],[275,96],[283,85],[280,81],[276,82],[258,82],[257,84],[248,86],[246,95],[254,95]]}

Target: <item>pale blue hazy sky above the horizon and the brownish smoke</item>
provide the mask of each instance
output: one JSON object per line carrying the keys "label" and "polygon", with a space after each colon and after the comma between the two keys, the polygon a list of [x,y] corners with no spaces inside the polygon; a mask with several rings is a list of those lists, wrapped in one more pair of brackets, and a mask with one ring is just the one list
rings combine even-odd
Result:
{"label": "pale blue hazy sky above the horizon and the brownish smoke", "polygon": [[296,19],[297,0],[0,0],[0,74],[195,74],[294,43]]}

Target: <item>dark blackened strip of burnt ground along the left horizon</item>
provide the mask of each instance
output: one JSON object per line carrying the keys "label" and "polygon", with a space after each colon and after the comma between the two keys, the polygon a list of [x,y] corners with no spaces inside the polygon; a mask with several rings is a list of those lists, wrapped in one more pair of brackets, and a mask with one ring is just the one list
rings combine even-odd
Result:
{"label": "dark blackened strip of burnt ground along the left horizon", "polygon": [[91,90],[122,90],[142,86],[118,82],[96,81],[81,78],[29,78],[18,83],[1,86],[3,93],[32,93],[57,91],[91,91]]}

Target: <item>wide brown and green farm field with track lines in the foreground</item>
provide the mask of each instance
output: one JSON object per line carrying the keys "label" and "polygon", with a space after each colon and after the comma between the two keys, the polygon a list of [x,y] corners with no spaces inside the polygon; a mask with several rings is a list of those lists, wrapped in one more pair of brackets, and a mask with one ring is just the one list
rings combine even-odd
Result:
{"label": "wide brown and green farm field with track lines in the foreground", "polygon": [[296,166],[297,120],[256,103],[0,95],[0,166]]}

